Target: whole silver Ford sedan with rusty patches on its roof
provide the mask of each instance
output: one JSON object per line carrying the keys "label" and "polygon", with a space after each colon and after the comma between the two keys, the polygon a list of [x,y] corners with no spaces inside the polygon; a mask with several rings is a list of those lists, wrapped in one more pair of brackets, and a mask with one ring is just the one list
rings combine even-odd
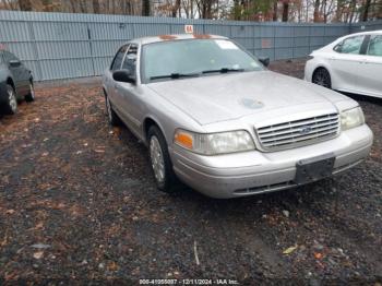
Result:
{"label": "whole silver Ford sedan with rusty patches on its roof", "polygon": [[123,45],[103,76],[108,119],[148,147],[159,190],[214,198],[277,191],[365,159],[359,105],[268,71],[228,38],[166,35]]}

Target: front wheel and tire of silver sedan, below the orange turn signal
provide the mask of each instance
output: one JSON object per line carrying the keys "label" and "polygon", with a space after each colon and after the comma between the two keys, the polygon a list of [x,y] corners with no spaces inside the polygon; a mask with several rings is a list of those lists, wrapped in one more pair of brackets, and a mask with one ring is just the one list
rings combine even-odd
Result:
{"label": "front wheel and tire of silver sedan, below the orange turn signal", "polygon": [[152,164],[156,187],[159,191],[174,193],[177,191],[178,180],[172,170],[172,163],[168,154],[166,139],[162,131],[152,126],[147,133],[148,155]]}

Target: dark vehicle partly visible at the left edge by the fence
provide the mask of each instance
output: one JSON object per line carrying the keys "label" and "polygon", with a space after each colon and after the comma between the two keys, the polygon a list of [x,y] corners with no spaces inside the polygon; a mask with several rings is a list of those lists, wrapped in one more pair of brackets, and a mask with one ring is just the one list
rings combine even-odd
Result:
{"label": "dark vehicle partly visible at the left edge by the fence", "polygon": [[12,52],[0,50],[0,111],[14,115],[24,98],[35,99],[32,72]]}

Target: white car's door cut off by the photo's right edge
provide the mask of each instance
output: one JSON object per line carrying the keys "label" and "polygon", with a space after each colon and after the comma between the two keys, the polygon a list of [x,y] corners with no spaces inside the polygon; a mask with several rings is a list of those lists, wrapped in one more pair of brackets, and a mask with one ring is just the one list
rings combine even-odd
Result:
{"label": "white car's door cut off by the photo's right edge", "polygon": [[382,97],[382,34],[367,36],[368,45],[359,67],[360,93]]}

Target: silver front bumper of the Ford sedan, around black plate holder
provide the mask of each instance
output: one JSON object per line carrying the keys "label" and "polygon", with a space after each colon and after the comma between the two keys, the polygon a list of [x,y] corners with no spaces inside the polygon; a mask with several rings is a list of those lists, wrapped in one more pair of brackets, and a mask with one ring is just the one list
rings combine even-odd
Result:
{"label": "silver front bumper of the Ford sedan, around black plate holder", "polygon": [[332,140],[286,151],[202,156],[177,145],[170,148],[174,170],[184,183],[212,198],[236,198],[296,187],[296,164],[333,153],[333,175],[365,159],[373,135],[363,124]]}

